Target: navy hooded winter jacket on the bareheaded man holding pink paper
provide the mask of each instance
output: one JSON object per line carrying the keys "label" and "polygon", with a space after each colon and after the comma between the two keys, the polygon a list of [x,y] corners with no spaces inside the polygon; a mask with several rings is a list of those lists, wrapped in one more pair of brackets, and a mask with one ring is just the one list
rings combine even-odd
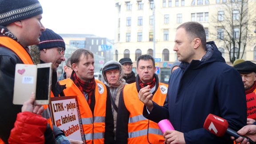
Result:
{"label": "navy hooded winter jacket on the bareheaded man holding pink paper", "polygon": [[169,119],[184,133],[186,144],[232,144],[230,136],[217,137],[203,128],[209,113],[228,120],[237,131],[246,125],[246,97],[239,73],[225,64],[213,41],[201,60],[182,62],[170,77],[167,103],[144,116],[155,122]]}

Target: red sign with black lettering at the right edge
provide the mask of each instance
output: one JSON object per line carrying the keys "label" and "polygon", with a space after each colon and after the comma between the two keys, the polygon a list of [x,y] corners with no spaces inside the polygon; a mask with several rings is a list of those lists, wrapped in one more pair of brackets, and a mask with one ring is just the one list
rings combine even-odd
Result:
{"label": "red sign with black lettering at the right edge", "polygon": [[246,95],[247,118],[256,119],[256,93],[252,92]]}

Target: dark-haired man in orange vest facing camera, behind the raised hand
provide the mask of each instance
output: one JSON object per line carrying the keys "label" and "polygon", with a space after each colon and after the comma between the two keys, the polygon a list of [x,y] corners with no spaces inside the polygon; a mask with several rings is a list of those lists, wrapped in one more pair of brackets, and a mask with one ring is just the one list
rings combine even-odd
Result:
{"label": "dark-haired man in orange vest facing camera, behind the raised hand", "polygon": [[164,105],[168,84],[159,82],[155,60],[150,55],[137,59],[136,82],[124,87],[120,94],[116,122],[117,144],[163,144],[164,136],[157,123],[144,118],[144,104],[139,100],[141,88],[150,86],[152,100]]}

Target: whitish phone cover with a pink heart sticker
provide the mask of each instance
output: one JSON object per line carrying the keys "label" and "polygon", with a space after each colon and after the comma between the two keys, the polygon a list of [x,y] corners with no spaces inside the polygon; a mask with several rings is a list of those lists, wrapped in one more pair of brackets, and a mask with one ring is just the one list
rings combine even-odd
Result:
{"label": "whitish phone cover with a pink heart sticker", "polygon": [[36,92],[36,73],[35,64],[16,64],[13,104],[24,104]]}

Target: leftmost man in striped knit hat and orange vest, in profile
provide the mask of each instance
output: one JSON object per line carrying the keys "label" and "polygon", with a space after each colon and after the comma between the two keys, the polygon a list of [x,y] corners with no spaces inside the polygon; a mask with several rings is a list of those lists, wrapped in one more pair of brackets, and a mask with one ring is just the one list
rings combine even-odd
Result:
{"label": "leftmost man in striped knit hat and orange vest, in profile", "polygon": [[26,48],[40,42],[45,30],[42,13],[38,0],[0,1],[0,141],[4,143],[22,107],[12,104],[15,66],[33,64]]}

